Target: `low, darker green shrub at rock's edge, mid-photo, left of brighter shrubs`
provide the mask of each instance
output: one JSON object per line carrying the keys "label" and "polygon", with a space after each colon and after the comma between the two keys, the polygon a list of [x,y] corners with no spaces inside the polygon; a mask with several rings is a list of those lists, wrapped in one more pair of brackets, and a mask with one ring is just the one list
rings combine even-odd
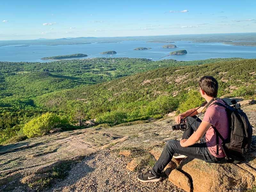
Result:
{"label": "low, darker green shrub at rock's edge, mid-photo, left of brighter shrubs", "polygon": [[96,123],[98,124],[120,124],[124,123],[127,115],[123,111],[111,111],[105,112],[96,118]]}

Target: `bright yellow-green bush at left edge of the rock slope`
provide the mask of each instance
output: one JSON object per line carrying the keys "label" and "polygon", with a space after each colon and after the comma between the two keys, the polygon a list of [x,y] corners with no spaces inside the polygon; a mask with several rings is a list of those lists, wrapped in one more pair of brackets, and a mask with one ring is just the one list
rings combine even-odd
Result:
{"label": "bright yellow-green bush at left edge of the rock slope", "polygon": [[51,129],[61,124],[67,124],[66,119],[61,119],[60,116],[54,113],[45,113],[42,116],[36,117],[26,123],[23,127],[23,133],[28,138],[43,136]]}

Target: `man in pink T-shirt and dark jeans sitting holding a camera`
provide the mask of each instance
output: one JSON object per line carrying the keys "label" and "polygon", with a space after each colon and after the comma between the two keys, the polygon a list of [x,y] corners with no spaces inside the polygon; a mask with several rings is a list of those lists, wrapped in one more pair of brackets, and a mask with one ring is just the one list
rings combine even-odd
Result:
{"label": "man in pink T-shirt and dark jeans sitting holding a camera", "polygon": [[[199,88],[201,96],[207,101],[211,101],[217,97],[218,82],[212,76],[204,76],[199,80]],[[213,102],[225,104],[221,99],[216,99]],[[219,131],[224,139],[228,138],[228,116],[224,107],[218,105],[210,105],[205,112],[203,121],[196,119],[196,114],[200,113],[204,107],[189,109],[188,111],[179,114],[175,117],[177,124],[181,119],[186,118],[188,128],[182,136],[182,140],[168,140],[164,146],[163,152],[159,157],[154,167],[144,173],[138,175],[138,180],[141,182],[157,182],[162,178],[161,172],[165,166],[173,158],[184,158],[186,156],[202,159],[208,163],[217,163],[225,157],[221,148],[222,140],[219,139],[219,155],[217,155],[216,135],[213,126]],[[193,123],[194,122],[194,123]],[[200,143],[198,143],[200,141]]]}

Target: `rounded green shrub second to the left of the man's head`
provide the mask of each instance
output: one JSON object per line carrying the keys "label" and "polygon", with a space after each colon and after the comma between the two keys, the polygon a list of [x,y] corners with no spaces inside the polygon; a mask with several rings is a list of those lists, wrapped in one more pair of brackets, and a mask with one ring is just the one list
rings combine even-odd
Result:
{"label": "rounded green shrub second to the left of the man's head", "polygon": [[164,115],[174,111],[179,106],[179,99],[172,96],[159,96],[156,100],[151,101],[147,108],[147,115]]}

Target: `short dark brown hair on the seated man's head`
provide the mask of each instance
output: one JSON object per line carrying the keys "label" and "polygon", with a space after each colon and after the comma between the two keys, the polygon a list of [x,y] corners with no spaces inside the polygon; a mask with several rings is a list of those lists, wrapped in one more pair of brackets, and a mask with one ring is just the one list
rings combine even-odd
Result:
{"label": "short dark brown hair on the seated man's head", "polygon": [[210,97],[217,97],[219,84],[213,76],[203,76],[199,80],[199,87]]}

